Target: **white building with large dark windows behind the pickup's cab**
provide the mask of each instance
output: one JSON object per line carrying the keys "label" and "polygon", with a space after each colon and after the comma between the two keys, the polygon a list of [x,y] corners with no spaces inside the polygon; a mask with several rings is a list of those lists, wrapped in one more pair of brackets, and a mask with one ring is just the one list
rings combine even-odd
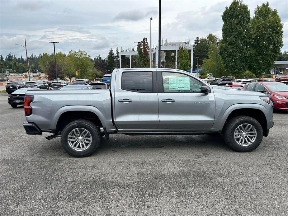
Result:
{"label": "white building with large dark windows behind the pickup's cab", "polygon": [[[193,45],[188,42],[161,42],[161,67],[162,68],[177,68],[177,54],[180,47],[188,50],[191,68],[193,65]],[[120,68],[136,68],[137,51],[123,50],[119,52]],[[152,49],[152,67],[158,68],[158,46]]]}

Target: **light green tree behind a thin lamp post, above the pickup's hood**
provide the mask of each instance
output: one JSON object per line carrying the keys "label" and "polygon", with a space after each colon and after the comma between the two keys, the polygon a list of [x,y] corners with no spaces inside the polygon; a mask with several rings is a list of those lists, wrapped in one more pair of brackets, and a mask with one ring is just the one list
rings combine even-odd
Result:
{"label": "light green tree behind a thin lamp post, above the pickup's hood", "polygon": [[[215,59],[216,59],[216,45],[211,43],[209,46],[208,58],[203,60],[202,68],[205,69],[206,73],[215,74]],[[204,71],[204,70],[201,70]],[[223,60],[219,53],[217,53],[217,70],[216,78],[228,75],[224,67]]]}

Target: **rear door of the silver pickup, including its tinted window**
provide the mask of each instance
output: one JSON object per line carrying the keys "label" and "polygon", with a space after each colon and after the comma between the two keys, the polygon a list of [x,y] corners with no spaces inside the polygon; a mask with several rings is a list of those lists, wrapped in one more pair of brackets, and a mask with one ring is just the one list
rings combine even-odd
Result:
{"label": "rear door of the silver pickup, including its tinted window", "polygon": [[114,116],[122,132],[155,130],[159,124],[156,70],[117,71]]}

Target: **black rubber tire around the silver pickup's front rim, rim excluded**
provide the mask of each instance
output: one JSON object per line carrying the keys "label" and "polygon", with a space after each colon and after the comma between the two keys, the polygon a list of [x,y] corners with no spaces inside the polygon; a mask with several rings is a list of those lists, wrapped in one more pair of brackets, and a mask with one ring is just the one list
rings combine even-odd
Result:
{"label": "black rubber tire around the silver pickup's front rim, rim excluded", "polygon": [[[234,131],[241,124],[251,124],[256,129],[257,132],[256,139],[252,144],[248,146],[241,146],[234,139]],[[263,129],[261,124],[256,119],[250,116],[240,115],[230,119],[226,123],[223,130],[223,138],[225,140],[225,143],[235,151],[251,152],[260,145],[263,138]]]}

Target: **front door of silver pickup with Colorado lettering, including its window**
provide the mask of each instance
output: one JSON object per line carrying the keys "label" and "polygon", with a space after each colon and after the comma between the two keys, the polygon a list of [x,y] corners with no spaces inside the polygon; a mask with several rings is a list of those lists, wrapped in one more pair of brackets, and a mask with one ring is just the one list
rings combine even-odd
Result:
{"label": "front door of silver pickup with Colorado lettering, including its window", "polygon": [[157,82],[161,86],[158,129],[210,131],[215,118],[215,97],[213,92],[201,93],[204,82],[185,73],[158,70]]}

